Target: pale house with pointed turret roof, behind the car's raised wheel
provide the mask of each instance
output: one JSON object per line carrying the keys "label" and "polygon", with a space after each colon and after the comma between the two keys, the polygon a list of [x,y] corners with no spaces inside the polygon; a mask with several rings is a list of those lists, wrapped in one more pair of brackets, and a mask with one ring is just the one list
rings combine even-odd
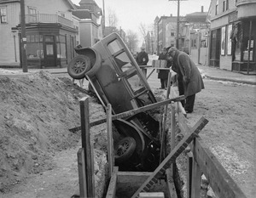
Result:
{"label": "pale house with pointed turret roof, behind the car's raised wheel", "polygon": [[81,0],[72,10],[73,20],[79,23],[79,44],[91,47],[102,39],[102,9],[94,0]]}

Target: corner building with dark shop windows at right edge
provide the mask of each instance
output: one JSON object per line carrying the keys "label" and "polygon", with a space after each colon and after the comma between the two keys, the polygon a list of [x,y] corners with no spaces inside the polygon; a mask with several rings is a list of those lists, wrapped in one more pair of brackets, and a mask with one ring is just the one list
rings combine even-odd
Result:
{"label": "corner building with dark shop windows at right edge", "polygon": [[255,0],[212,0],[210,65],[228,71],[256,71],[255,10]]}

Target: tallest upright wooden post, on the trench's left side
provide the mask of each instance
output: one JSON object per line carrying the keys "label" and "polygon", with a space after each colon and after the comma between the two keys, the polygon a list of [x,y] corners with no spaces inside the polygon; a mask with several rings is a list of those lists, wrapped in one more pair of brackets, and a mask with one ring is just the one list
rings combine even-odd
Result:
{"label": "tallest upright wooden post, on the trench's left side", "polygon": [[81,116],[82,148],[84,148],[87,196],[95,196],[94,156],[90,144],[89,97],[79,100]]}

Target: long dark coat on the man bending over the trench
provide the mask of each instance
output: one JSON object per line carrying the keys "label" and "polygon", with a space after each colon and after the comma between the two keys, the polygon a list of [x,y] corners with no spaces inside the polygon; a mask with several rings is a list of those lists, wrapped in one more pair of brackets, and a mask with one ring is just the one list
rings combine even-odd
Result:
{"label": "long dark coat on the man bending over the trench", "polygon": [[177,51],[173,61],[177,67],[173,68],[173,71],[177,70],[177,75],[183,77],[185,96],[199,93],[201,89],[205,88],[201,73],[188,54]]}

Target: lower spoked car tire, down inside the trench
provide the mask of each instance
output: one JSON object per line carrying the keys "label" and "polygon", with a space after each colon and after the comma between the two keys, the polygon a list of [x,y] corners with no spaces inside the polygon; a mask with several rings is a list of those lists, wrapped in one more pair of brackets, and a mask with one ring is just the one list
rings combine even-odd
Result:
{"label": "lower spoked car tire, down inside the trench", "polygon": [[117,144],[116,155],[114,156],[116,163],[127,161],[136,149],[136,141],[131,137],[121,139]]}

